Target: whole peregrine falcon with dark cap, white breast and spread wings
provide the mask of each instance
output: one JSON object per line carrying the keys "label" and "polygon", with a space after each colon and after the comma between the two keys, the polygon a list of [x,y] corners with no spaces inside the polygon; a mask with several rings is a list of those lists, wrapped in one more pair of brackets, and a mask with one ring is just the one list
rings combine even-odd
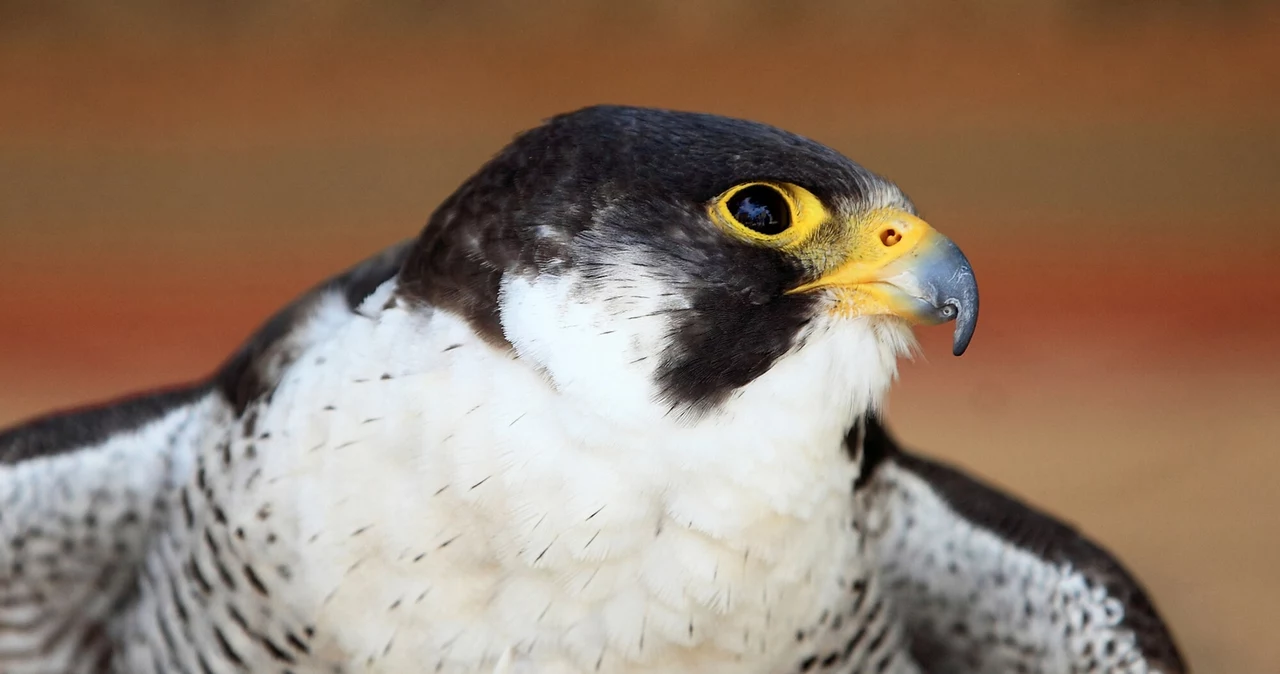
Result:
{"label": "whole peregrine falcon with dark cap, white breast and spread wings", "polygon": [[876,414],[973,270],[781,129],[598,106],[198,384],[0,434],[0,671],[1184,671]]}

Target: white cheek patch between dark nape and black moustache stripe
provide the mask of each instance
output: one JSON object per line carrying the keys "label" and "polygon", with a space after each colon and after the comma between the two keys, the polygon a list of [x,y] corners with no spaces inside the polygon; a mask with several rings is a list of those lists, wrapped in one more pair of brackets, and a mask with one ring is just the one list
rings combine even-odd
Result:
{"label": "white cheek patch between dark nape and black moustache stripe", "polygon": [[643,422],[660,416],[654,372],[669,345],[672,312],[686,308],[669,284],[626,271],[607,286],[575,274],[508,275],[498,295],[502,330],[521,359],[584,409]]}

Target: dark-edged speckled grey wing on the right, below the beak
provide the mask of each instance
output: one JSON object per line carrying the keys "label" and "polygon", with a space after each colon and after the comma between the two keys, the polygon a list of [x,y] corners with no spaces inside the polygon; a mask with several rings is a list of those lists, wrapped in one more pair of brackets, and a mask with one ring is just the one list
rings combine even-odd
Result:
{"label": "dark-edged speckled grey wing on the right, below the beak", "polygon": [[872,554],[925,671],[1187,671],[1142,586],[1075,529],[874,419],[864,457]]}

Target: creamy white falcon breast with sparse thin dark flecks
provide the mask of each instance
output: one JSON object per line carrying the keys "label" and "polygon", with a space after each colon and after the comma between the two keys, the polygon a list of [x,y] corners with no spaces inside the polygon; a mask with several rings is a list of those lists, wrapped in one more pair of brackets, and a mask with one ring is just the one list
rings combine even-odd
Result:
{"label": "creamy white falcon breast with sparse thin dark flecks", "polygon": [[842,437],[892,372],[850,390],[882,363],[836,354],[868,352],[810,344],[714,417],[625,423],[389,310],[302,356],[229,514],[298,541],[279,599],[360,670],[771,671],[856,564]]}

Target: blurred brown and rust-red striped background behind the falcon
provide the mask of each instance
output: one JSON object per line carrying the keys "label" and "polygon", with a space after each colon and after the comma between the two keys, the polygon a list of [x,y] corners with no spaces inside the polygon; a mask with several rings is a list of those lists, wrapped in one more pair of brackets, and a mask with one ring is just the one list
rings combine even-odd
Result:
{"label": "blurred brown and rust-red striped background behind the falcon", "polygon": [[969,255],[897,432],[1089,532],[1193,668],[1280,671],[1280,6],[0,0],[0,425],[189,380],[595,102],[782,125]]}

